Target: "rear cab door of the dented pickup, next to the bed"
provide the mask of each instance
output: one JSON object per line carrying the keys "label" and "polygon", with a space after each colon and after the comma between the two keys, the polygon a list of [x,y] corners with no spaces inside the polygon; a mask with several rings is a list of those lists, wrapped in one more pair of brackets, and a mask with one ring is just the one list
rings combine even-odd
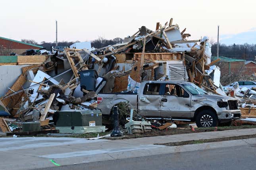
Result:
{"label": "rear cab door of the dented pickup, next to the bed", "polygon": [[141,89],[139,93],[139,113],[141,115],[160,117],[161,84],[162,83],[146,83],[144,89]]}

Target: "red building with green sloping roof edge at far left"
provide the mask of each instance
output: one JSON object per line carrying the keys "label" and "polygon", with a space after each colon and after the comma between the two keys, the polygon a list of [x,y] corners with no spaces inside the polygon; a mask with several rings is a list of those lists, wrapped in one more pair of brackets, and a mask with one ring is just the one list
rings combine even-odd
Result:
{"label": "red building with green sloping roof edge at far left", "polygon": [[28,49],[41,49],[40,45],[34,45],[31,43],[20,42],[4,37],[0,37],[0,50],[5,50],[8,53],[21,54]]}

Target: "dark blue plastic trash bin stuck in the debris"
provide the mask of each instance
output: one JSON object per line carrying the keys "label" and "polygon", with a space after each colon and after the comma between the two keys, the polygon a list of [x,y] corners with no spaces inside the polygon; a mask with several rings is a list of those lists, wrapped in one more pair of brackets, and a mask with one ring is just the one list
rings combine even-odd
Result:
{"label": "dark blue plastic trash bin stuck in the debris", "polygon": [[87,91],[95,91],[96,79],[98,78],[98,73],[96,70],[83,70],[78,73],[80,77],[81,91],[85,89]]}

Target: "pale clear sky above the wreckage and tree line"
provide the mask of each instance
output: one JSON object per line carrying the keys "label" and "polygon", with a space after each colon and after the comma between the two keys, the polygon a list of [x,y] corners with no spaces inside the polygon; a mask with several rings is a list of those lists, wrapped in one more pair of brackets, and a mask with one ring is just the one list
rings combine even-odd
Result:
{"label": "pale clear sky above the wreckage and tree line", "polygon": [[255,0],[2,0],[0,36],[14,40],[91,41],[154,30],[170,18],[190,40],[208,36],[220,43],[256,43]]}

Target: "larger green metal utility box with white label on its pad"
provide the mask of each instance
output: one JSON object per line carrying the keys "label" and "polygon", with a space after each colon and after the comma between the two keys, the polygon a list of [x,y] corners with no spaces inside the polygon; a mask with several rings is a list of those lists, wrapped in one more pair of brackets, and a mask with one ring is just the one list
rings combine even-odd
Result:
{"label": "larger green metal utility box with white label on its pad", "polygon": [[56,129],[73,134],[105,132],[100,110],[57,111]]}

